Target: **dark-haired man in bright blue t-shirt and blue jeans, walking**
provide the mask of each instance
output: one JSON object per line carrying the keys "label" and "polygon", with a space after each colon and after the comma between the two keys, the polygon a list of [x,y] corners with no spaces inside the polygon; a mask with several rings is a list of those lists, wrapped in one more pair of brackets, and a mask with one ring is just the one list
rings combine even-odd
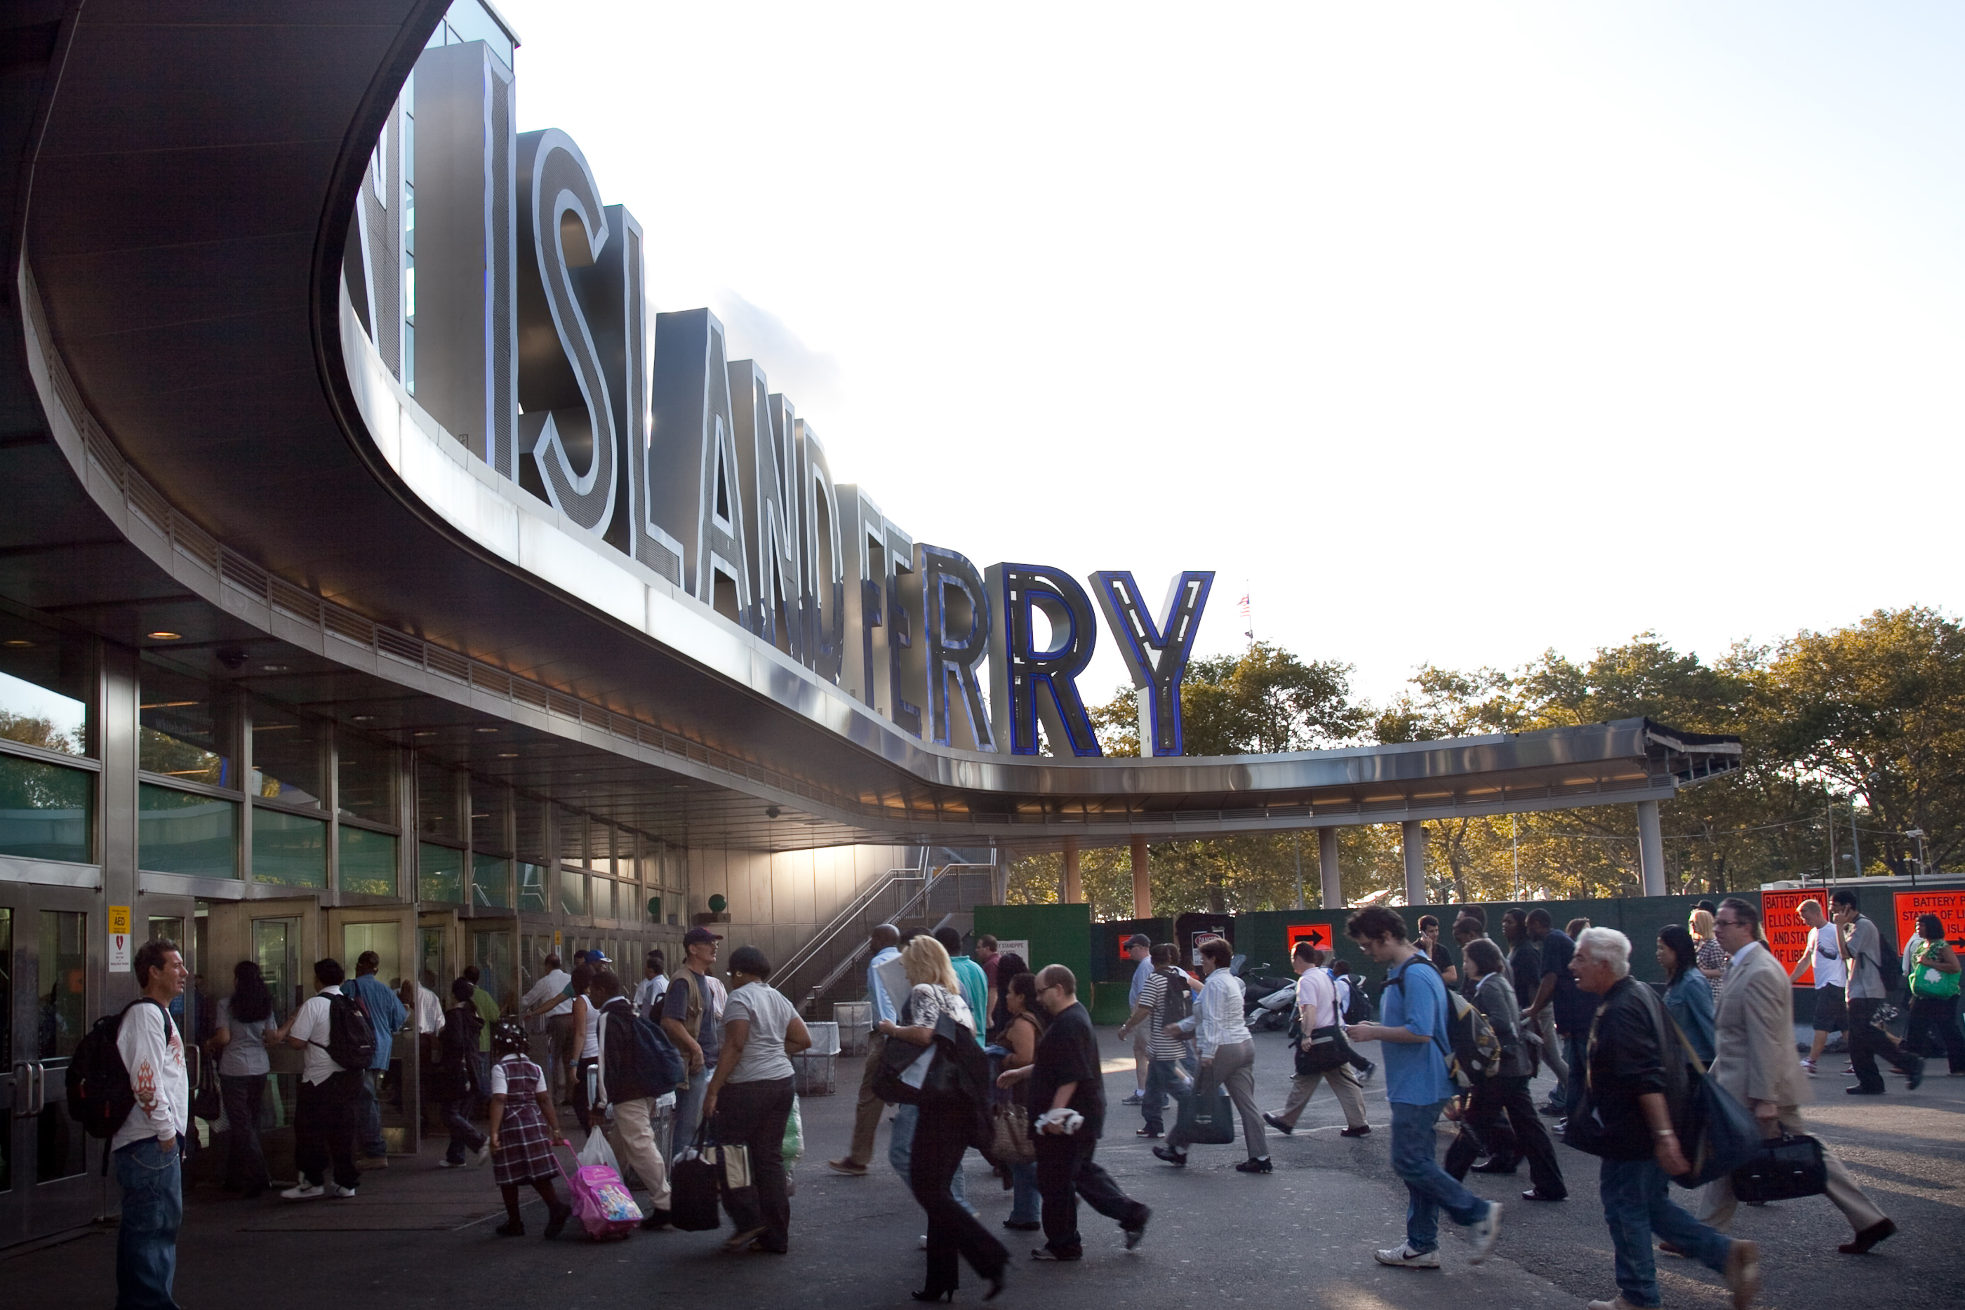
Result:
{"label": "dark-haired man in bright blue t-shirt and blue jeans, walking", "polygon": [[1440,1267],[1440,1210],[1470,1228],[1474,1255],[1488,1259],[1501,1231],[1501,1206],[1460,1186],[1434,1159],[1434,1125],[1454,1094],[1446,1074],[1452,1008],[1440,972],[1405,939],[1405,919],[1383,905],[1360,909],[1344,933],[1385,966],[1379,1023],[1344,1029],[1352,1041],[1385,1043],[1385,1100],[1391,1102],[1391,1171],[1405,1182],[1405,1245],[1374,1251],[1395,1269]]}

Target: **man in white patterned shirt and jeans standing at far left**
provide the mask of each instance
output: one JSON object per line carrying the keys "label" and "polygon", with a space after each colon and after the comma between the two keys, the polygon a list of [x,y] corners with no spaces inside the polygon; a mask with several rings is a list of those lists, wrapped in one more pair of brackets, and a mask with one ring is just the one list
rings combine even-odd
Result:
{"label": "man in white patterned shirt and jeans standing at far left", "polygon": [[116,1304],[173,1306],[177,1229],[185,1222],[179,1143],[191,1108],[185,1039],[169,1006],[185,994],[191,970],[169,939],[138,947],[134,962],[141,1000],[124,1010],[116,1055],[130,1074],[136,1104],[110,1139],[122,1224],[116,1229]]}

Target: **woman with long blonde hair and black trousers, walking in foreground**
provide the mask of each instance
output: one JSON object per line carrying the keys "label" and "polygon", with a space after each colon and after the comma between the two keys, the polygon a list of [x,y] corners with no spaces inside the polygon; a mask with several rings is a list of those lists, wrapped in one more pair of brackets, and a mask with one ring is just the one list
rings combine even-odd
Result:
{"label": "woman with long blonde hair and black trousers, walking in foreground", "polygon": [[[906,1025],[880,1019],[880,1033],[890,1043],[904,1041],[916,1047],[933,1047],[935,1025],[941,1019],[967,1029],[975,1039],[977,1021],[963,1000],[963,986],[955,978],[955,966],[941,943],[922,933],[900,953],[902,968],[912,984],[908,1004],[902,1008]],[[908,1186],[914,1200],[927,1212],[927,1286],[914,1292],[916,1300],[955,1300],[961,1273],[955,1257],[961,1255],[969,1267],[988,1279],[990,1288],[982,1296],[988,1300],[1002,1290],[1002,1273],[1010,1263],[1010,1251],[990,1235],[969,1208],[949,1190],[961,1171],[963,1153],[969,1149],[977,1108],[967,1100],[924,1100],[914,1110],[914,1139],[908,1159]],[[894,1119],[894,1145],[900,1145],[902,1116]]]}

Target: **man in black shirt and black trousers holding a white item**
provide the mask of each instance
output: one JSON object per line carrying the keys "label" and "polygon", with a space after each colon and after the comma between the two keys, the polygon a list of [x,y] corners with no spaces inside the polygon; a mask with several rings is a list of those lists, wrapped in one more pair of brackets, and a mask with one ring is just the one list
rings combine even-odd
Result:
{"label": "man in black shirt and black trousers holding a white item", "polygon": [[[1038,1041],[1032,1064],[1012,1068],[996,1082],[1014,1086],[1030,1078],[1030,1131],[1038,1143],[1038,1192],[1043,1196],[1043,1245],[1030,1255],[1039,1261],[1085,1257],[1079,1237],[1079,1198],[1098,1214],[1118,1220],[1132,1251],[1146,1237],[1151,1210],[1118,1190],[1093,1153],[1104,1131],[1104,1076],[1098,1070],[1098,1037],[1093,1017],[1079,1004],[1079,980],[1063,964],[1038,974],[1038,1004],[1051,1025]],[[1085,1121],[1075,1133],[1051,1119],[1051,1112],[1077,1110]],[[1057,1116],[1061,1118],[1061,1114]]]}

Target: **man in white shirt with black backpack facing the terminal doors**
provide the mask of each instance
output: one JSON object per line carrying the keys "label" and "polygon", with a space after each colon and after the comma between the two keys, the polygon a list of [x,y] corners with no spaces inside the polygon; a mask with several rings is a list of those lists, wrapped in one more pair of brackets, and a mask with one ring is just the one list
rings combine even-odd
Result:
{"label": "man in white shirt with black backpack facing the terminal doors", "polygon": [[[348,1198],[362,1180],[356,1169],[356,1100],[362,1094],[362,1070],[375,1059],[375,1025],[362,1002],[342,994],[346,978],[340,960],[318,960],[318,992],[281,1033],[289,1047],[305,1053],[293,1112],[293,1163],[301,1171],[301,1182],[281,1192],[287,1200]],[[332,1184],[326,1180],[330,1163]]]}

